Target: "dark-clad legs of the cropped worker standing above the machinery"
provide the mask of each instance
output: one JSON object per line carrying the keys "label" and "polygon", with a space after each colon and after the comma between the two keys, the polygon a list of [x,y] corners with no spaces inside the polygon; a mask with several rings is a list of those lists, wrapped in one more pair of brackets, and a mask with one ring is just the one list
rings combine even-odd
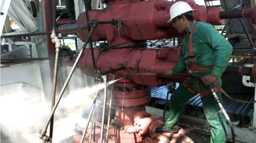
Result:
{"label": "dark-clad legs of the cropped worker standing above the machinery", "polygon": [[[92,10],[91,2],[92,0],[87,0],[88,11]],[[69,18],[69,23],[75,23],[74,0],[65,0],[65,5]]]}

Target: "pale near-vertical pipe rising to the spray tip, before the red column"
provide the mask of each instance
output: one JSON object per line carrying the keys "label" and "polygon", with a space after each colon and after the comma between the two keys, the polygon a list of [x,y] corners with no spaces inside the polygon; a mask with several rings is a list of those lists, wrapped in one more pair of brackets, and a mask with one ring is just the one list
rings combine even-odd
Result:
{"label": "pale near-vertical pipe rising to the spray tip, before the red column", "polygon": [[104,80],[104,102],[103,102],[103,110],[102,110],[102,119],[101,119],[101,141],[100,143],[103,142],[103,132],[104,132],[104,121],[105,121],[105,111],[106,111],[106,102],[107,102],[107,90],[108,90],[108,85],[107,85],[107,76],[103,76]]}

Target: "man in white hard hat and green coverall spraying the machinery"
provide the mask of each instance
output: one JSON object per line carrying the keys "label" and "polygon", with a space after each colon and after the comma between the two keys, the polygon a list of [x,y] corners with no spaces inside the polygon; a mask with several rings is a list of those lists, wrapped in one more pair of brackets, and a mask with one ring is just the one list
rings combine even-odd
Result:
{"label": "man in white hard hat and green coverall spraying the machinery", "polygon": [[[169,115],[162,127],[155,132],[176,132],[178,130],[178,117],[183,105],[192,97],[200,93],[203,111],[210,125],[210,143],[226,143],[227,126],[224,114],[215,101],[207,85],[213,84],[214,91],[222,103],[219,91],[222,85],[220,76],[225,71],[232,52],[232,45],[216,31],[209,23],[195,22],[193,12],[186,2],[177,2],[170,8],[173,26],[180,33],[185,33],[178,52],[179,62],[174,68],[164,72],[167,77],[172,77],[175,72],[208,72],[201,80],[186,78],[177,90],[171,95]],[[198,81],[198,82],[197,82]]]}

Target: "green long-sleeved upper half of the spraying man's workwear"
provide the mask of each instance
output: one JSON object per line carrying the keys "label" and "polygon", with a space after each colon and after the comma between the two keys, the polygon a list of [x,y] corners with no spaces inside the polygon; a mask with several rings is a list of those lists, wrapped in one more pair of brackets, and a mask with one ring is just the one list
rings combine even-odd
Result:
{"label": "green long-sleeved upper half of the spraying man's workwear", "polygon": [[[189,29],[189,35],[194,26]],[[173,68],[175,72],[182,72],[186,69],[186,65],[192,66],[189,61],[189,35],[185,33],[183,36],[183,51],[179,57],[179,62]],[[209,23],[197,22],[192,36],[193,51],[198,66],[210,66],[215,64],[214,68],[199,72],[209,72],[213,76],[220,77],[225,71],[232,53],[232,45]],[[195,80],[191,80],[194,82]],[[190,82],[190,83],[191,83]]]}

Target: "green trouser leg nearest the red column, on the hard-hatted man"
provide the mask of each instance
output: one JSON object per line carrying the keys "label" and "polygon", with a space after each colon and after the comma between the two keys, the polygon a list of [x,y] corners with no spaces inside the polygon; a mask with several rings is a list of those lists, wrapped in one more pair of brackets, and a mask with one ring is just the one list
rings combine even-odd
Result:
{"label": "green trouser leg nearest the red column, on the hard-hatted man", "polygon": [[176,123],[179,115],[182,112],[183,105],[196,94],[189,92],[183,85],[177,88],[177,90],[171,95],[170,104],[169,104],[169,115],[165,121],[165,126],[168,128],[177,128],[178,124]]}

